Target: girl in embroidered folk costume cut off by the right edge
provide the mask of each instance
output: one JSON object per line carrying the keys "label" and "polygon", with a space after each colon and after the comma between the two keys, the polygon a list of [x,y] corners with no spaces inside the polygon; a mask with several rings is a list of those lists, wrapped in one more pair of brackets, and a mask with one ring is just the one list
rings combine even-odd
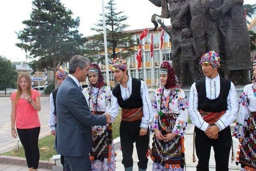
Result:
{"label": "girl in embroidered folk costume cut off by the right edge", "polygon": [[253,61],[253,83],[244,86],[233,136],[238,138],[242,171],[256,171],[256,60]]}

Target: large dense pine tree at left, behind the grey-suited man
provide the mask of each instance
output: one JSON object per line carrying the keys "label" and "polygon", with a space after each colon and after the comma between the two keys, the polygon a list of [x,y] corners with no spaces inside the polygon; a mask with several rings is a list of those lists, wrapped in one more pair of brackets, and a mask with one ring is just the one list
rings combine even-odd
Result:
{"label": "large dense pine tree at left, behind the grey-suited man", "polygon": [[29,52],[34,71],[50,68],[55,73],[57,65],[84,54],[79,48],[86,41],[77,30],[80,19],[73,19],[60,0],[33,0],[32,6],[30,19],[22,22],[26,27],[17,33],[22,43],[16,45]]}

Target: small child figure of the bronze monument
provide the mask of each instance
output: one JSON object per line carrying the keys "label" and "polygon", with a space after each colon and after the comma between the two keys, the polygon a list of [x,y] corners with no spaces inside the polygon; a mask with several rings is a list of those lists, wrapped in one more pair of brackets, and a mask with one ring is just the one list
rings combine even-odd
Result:
{"label": "small child figure of the bronze monument", "polygon": [[184,85],[186,76],[186,68],[189,69],[192,78],[192,83],[200,79],[198,71],[198,54],[194,45],[194,39],[191,37],[189,28],[182,29],[181,39],[174,50],[173,56],[175,57],[179,51],[180,55],[180,85]]}

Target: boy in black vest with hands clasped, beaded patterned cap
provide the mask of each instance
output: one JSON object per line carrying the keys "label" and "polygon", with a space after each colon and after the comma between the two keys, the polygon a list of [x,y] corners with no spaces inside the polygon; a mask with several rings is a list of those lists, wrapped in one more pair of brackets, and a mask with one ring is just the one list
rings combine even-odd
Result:
{"label": "boy in black vest with hands clasped, beaded patterned cap", "polygon": [[234,84],[218,75],[220,58],[215,51],[202,56],[200,64],[206,76],[190,90],[189,114],[195,125],[197,171],[209,171],[211,147],[216,171],[228,171],[232,138],[230,124],[236,119],[238,98]]}

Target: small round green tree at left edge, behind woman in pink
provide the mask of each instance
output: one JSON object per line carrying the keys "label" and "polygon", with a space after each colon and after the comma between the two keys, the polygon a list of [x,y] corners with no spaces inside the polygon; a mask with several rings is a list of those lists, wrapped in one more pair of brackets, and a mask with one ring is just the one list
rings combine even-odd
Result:
{"label": "small round green tree at left edge, behind woman in pink", "polygon": [[6,95],[6,88],[15,88],[18,73],[13,67],[12,62],[6,57],[0,55],[0,89],[4,89]]}

